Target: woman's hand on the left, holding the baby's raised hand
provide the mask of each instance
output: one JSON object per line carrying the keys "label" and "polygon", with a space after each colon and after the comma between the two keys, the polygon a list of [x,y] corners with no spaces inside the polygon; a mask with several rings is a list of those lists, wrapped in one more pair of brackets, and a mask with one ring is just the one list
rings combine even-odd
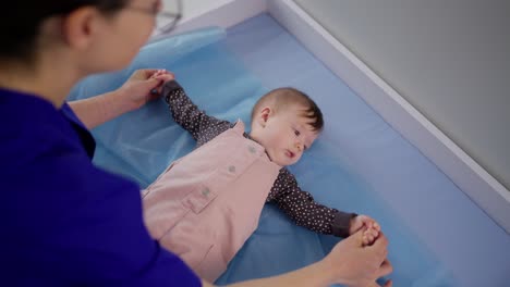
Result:
{"label": "woman's hand on the left, holding the baby's raised hand", "polygon": [[173,78],[173,74],[166,70],[136,70],[116,92],[133,111],[159,98],[160,87]]}

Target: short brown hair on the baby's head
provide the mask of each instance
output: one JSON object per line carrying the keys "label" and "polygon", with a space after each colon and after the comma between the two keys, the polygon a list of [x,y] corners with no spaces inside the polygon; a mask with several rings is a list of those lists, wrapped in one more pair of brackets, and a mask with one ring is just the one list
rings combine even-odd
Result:
{"label": "short brown hair on the baby's head", "polygon": [[324,118],[320,109],[306,93],[290,87],[274,89],[258,99],[252,110],[252,121],[264,107],[269,105],[275,112],[278,112],[291,104],[301,104],[305,107],[306,110],[304,111],[303,116],[313,120],[308,123],[313,127],[313,130],[323,130]]}

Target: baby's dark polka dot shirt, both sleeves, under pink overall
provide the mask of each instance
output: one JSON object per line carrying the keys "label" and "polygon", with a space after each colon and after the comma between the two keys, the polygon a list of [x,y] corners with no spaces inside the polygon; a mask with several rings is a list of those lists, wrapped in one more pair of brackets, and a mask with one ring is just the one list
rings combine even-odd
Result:
{"label": "baby's dark polka dot shirt, both sleeves, under pink overall", "polygon": [[[162,95],[173,118],[193,136],[197,147],[234,125],[201,111],[175,80],[165,84]],[[250,138],[247,134],[244,136]],[[351,219],[356,216],[355,213],[341,212],[315,202],[309,192],[299,187],[294,175],[286,167],[280,170],[266,202],[276,203],[300,226],[339,237],[349,236]]]}

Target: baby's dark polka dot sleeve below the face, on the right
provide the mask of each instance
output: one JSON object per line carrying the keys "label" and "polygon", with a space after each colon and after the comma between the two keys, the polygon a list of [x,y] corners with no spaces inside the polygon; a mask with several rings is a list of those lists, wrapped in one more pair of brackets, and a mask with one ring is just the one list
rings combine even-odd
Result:
{"label": "baby's dark polka dot sleeve below the face, on the right", "polygon": [[339,237],[349,236],[351,219],[356,216],[315,202],[309,192],[301,190],[287,169],[280,170],[267,201],[278,204],[298,225]]}

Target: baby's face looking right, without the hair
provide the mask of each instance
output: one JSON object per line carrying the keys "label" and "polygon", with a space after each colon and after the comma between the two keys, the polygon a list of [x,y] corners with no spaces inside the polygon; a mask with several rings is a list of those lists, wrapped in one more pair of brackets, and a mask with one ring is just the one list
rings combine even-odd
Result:
{"label": "baby's face looking right, without the hair", "polygon": [[296,163],[318,136],[302,115],[303,108],[287,107],[270,114],[256,140],[266,149],[270,160],[280,166]]}

